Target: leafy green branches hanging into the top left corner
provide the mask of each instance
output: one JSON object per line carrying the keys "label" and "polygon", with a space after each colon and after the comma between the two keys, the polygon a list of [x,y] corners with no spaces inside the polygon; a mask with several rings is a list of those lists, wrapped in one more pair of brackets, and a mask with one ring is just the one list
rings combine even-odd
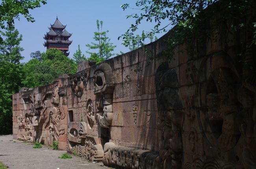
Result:
{"label": "leafy green branches hanging into the top left corner", "polygon": [[40,7],[41,4],[46,4],[46,0],[2,0],[0,5],[1,29],[6,29],[6,25],[13,26],[14,19],[20,19],[20,15],[23,15],[29,22],[35,22],[29,14],[29,9]]}

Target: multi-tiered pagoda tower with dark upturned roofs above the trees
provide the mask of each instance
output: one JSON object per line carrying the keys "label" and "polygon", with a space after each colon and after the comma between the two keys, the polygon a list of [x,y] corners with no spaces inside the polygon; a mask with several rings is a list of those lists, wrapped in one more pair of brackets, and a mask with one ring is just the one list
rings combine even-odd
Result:
{"label": "multi-tiered pagoda tower with dark upturned roofs above the trees", "polygon": [[43,44],[47,49],[55,48],[63,51],[64,55],[69,56],[67,52],[69,50],[69,45],[72,43],[72,40],[69,40],[72,33],[68,33],[66,31],[67,25],[62,25],[58,16],[54,24],[51,24],[49,28],[49,32],[46,33],[44,39],[46,40],[45,44]]}

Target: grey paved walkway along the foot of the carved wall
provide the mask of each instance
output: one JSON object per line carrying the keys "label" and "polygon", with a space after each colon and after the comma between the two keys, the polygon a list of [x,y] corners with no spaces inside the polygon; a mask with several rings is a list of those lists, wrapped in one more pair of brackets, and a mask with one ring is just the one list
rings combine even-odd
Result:
{"label": "grey paved walkway along the foot of the carved wall", "polygon": [[[66,151],[52,150],[43,146],[33,149],[33,145],[12,140],[12,135],[0,136],[0,161],[10,169],[107,169],[102,163],[91,163],[78,156],[71,159],[58,158]],[[10,141],[12,140],[12,141]]]}

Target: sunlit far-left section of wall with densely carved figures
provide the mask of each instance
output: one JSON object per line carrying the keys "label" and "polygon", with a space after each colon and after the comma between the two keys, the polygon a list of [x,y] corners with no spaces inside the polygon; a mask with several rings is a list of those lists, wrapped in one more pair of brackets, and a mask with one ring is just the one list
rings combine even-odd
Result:
{"label": "sunlit far-left section of wall with densely carved figures", "polygon": [[13,138],[52,145],[67,141],[67,78],[13,94]]}

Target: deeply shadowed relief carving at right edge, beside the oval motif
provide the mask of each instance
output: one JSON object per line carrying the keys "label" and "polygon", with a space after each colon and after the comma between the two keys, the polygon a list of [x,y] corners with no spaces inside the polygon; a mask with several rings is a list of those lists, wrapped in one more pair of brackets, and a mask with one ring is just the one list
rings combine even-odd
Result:
{"label": "deeply shadowed relief carving at right edge, beside the oval motif", "polygon": [[249,75],[238,90],[238,100],[243,109],[238,114],[239,131],[243,137],[243,163],[246,168],[256,167],[256,82],[255,74]]}

